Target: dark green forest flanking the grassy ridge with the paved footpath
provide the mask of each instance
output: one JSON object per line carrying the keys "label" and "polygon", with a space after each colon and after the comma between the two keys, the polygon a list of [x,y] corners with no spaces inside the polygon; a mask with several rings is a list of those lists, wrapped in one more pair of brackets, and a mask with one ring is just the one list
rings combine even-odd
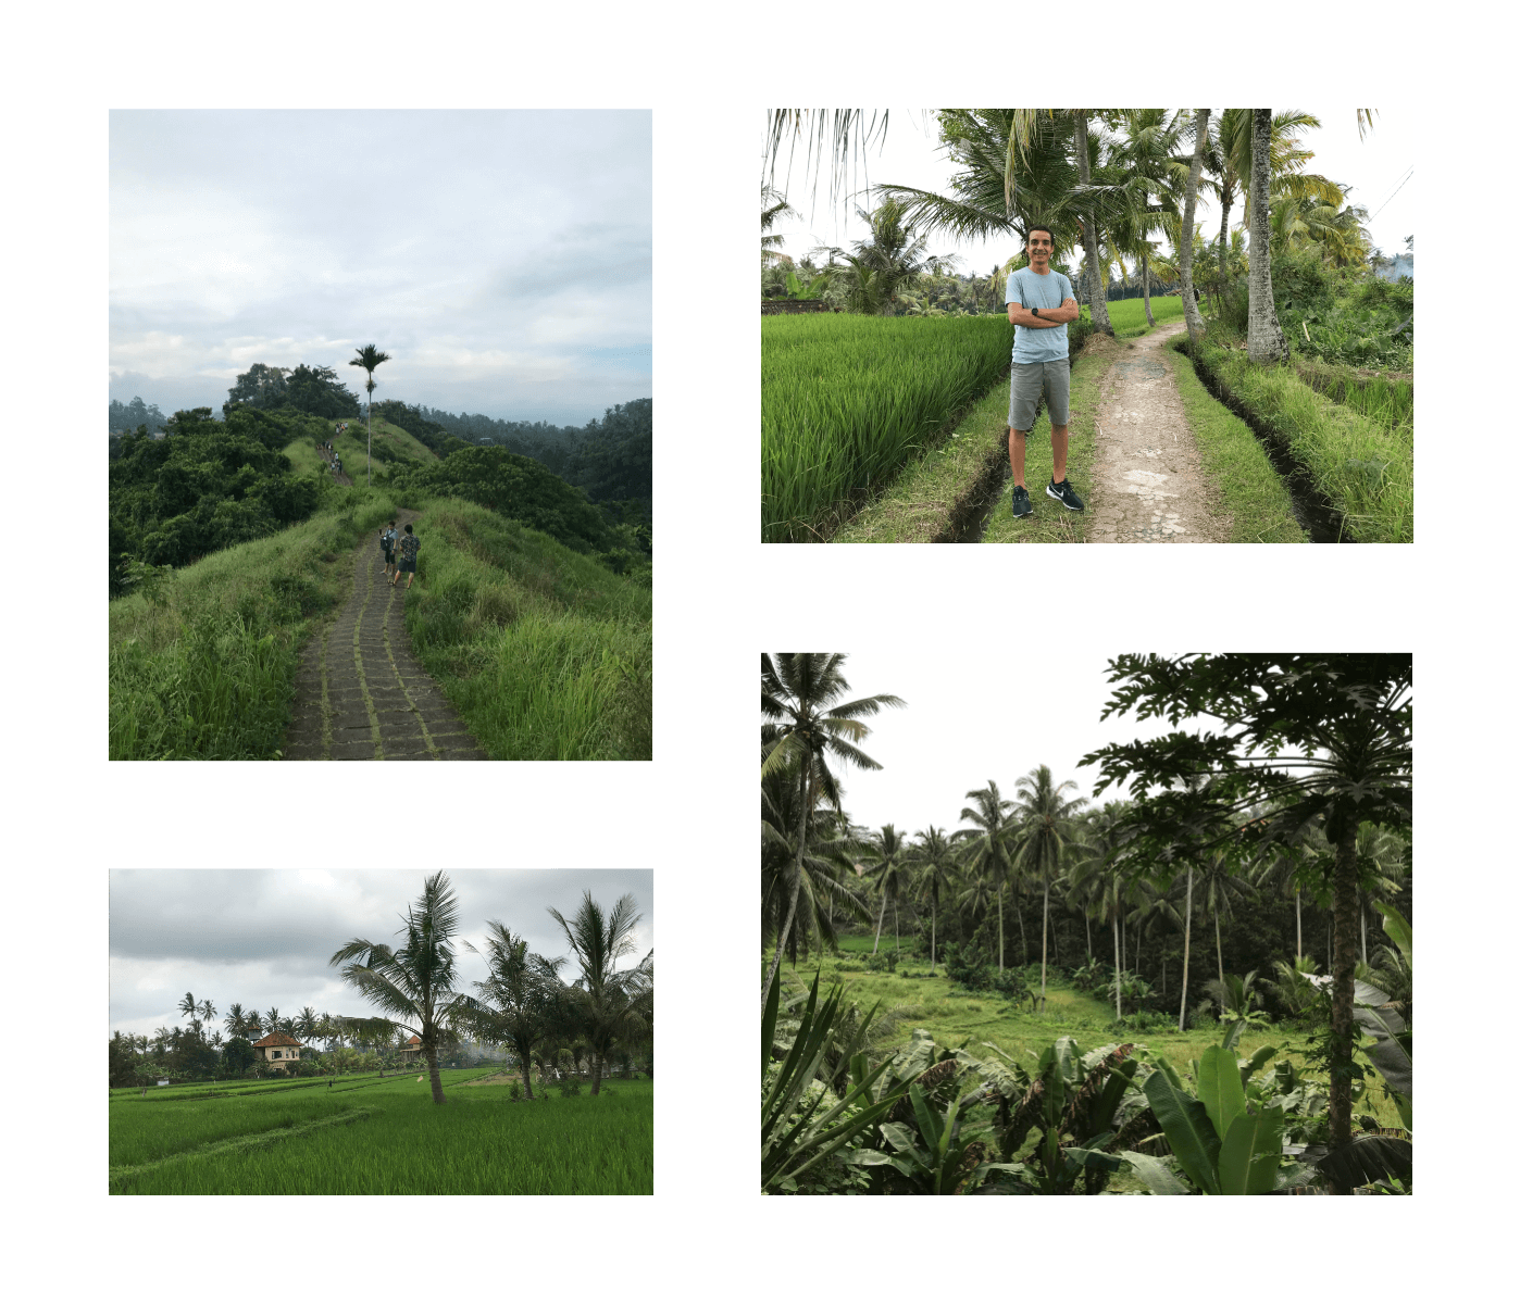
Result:
{"label": "dark green forest flanking the grassy ridge with the paved footpath", "polygon": [[[108,597],[131,590],[134,565],[188,565],[334,505],[344,486],[306,454],[340,419],[351,423],[344,471],[356,483],[368,461],[378,486],[467,498],[616,574],[652,567],[652,400],[619,404],[584,430],[389,401],[374,404],[371,424],[391,438],[366,441],[359,415],[331,369],[263,363],[239,377],[222,419],[208,407],[164,419],[140,398],[111,403],[108,429],[134,433],[108,435]],[[152,438],[160,430],[166,438]]]}

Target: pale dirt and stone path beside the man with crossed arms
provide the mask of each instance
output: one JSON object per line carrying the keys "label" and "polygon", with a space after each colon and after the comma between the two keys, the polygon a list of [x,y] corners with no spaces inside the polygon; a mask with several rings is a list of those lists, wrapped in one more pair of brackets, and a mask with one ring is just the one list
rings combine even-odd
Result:
{"label": "pale dirt and stone path beside the man with crossed arms", "polygon": [[1166,342],[1187,322],[1135,340],[1099,336],[1088,353],[1110,357],[1099,381],[1088,543],[1228,543],[1231,517],[1205,480],[1176,392]]}

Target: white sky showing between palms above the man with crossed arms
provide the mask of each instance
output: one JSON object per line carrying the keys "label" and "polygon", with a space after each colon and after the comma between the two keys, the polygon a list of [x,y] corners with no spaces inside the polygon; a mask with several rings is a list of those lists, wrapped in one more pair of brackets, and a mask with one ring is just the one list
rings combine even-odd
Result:
{"label": "white sky showing between palms above the man with crossed arms", "polygon": [[[1210,123],[1218,112],[1210,112]],[[1287,109],[1274,109],[1275,112]],[[1348,205],[1360,204],[1368,214],[1376,214],[1363,225],[1371,233],[1374,246],[1386,257],[1406,252],[1404,237],[1415,233],[1415,181],[1411,172],[1415,166],[1414,109],[1374,109],[1365,114],[1360,138],[1354,108],[1300,112],[1312,114],[1321,126],[1294,132],[1298,147],[1315,155],[1298,170],[1328,178],[1345,191]],[[952,178],[967,172],[965,164],[955,163],[950,149],[939,143],[936,109],[860,109],[859,117],[850,123],[842,160],[836,143],[834,111],[804,109],[801,132],[792,125],[795,119],[787,116],[789,125],[777,147],[772,178],[772,160],[766,149],[777,114],[777,109],[760,111],[760,175],[796,211],[781,213],[763,234],[781,236],[784,243],[768,248],[793,261],[801,261],[818,246],[834,246],[854,254],[857,240],[871,240],[871,226],[856,210],[874,211],[882,207],[886,195],[868,187],[889,182],[953,198],[956,191],[950,185]],[[822,141],[818,135],[819,119],[824,123]],[[1096,129],[1108,135],[1100,123]],[[1190,144],[1189,137],[1184,146]],[[766,196],[763,207],[778,202],[780,199]],[[1230,205],[1230,229],[1245,231],[1243,219],[1245,201],[1243,196],[1236,196]],[[1219,236],[1219,202],[1202,190],[1195,220],[1202,223],[1205,239]],[[918,228],[918,236],[924,240],[920,261],[936,255],[955,257],[950,269],[961,277],[986,277],[993,267],[1002,267],[1011,257],[1023,252],[1023,239],[1017,236],[999,234],[990,240],[968,237],[958,242],[948,231],[926,231],[923,226]],[[1164,236],[1151,239],[1158,240],[1161,252],[1170,255],[1172,246]],[[1248,248],[1249,243],[1246,231]],[[828,261],[827,254],[812,257],[816,266]],[[1081,257],[1076,254],[1069,260],[1073,271]],[[1114,275],[1120,275],[1117,266]],[[1131,266],[1129,275],[1138,275],[1138,267]]]}

